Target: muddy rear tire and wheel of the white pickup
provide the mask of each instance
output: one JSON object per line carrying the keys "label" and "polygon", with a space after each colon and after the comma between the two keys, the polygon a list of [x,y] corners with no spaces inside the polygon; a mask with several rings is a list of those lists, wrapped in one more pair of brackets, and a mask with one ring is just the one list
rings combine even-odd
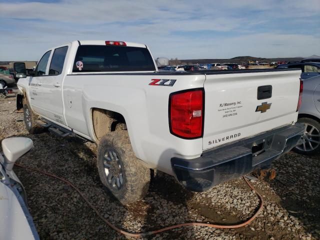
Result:
{"label": "muddy rear tire and wheel of the white pickup", "polygon": [[126,130],[112,131],[101,137],[97,168],[103,185],[123,205],[145,196],[150,169],[135,157]]}

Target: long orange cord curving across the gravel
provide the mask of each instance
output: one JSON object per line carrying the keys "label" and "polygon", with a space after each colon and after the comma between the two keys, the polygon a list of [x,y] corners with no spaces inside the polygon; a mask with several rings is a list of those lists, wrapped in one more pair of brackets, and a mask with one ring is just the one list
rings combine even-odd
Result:
{"label": "long orange cord curving across the gravel", "polygon": [[241,227],[241,226],[245,226],[247,224],[249,224],[251,221],[254,220],[254,218],[258,215],[258,213],[260,212],[260,210],[262,209],[263,207],[263,199],[262,199],[262,196],[253,188],[253,186],[248,182],[247,179],[245,179],[245,177],[243,177],[244,181],[246,182],[246,184],[252,189],[255,191],[255,193],[258,195],[258,197],[260,198],[260,206],[258,208],[258,210],[253,214],[253,216],[251,216],[247,221],[244,221],[240,224],[236,224],[236,225],[215,225],[215,224],[210,224],[210,223],[201,223],[201,222],[188,222],[188,223],[181,223],[181,224],[176,224],[176,225],[172,225],[172,226],[167,226],[167,227],[164,227],[164,228],[161,228],[161,229],[158,229],[158,230],[154,230],[154,231],[148,231],[148,232],[141,232],[141,233],[130,233],[130,232],[127,232],[127,231],[124,231],[124,230],[121,230],[120,228],[116,227],[115,225],[113,225],[112,223],[110,223],[107,219],[105,219],[101,213],[98,212],[98,210],[92,205],[92,203],[89,202],[89,200],[83,195],[83,193],[77,188],[75,187],[71,182],[65,180],[64,178],[62,177],[59,177],[59,176],[56,176],[54,174],[51,174],[51,173],[48,173],[48,172],[45,172],[45,171],[42,171],[42,170],[39,170],[39,169],[36,169],[36,168],[32,168],[32,167],[29,167],[29,166],[23,166],[23,165],[20,165],[20,164],[17,164],[15,163],[16,166],[18,167],[23,167],[23,168],[26,168],[26,169],[29,169],[29,170],[32,170],[32,171],[36,171],[36,172],[39,172],[43,175],[47,175],[47,176],[50,176],[50,177],[53,177],[53,178],[56,178],[56,179],[59,179],[60,181],[63,181],[65,184],[71,186],[74,190],[77,191],[77,193],[79,193],[79,195],[83,198],[83,200],[92,208],[92,210],[109,226],[111,227],[112,229],[116,230],[117,232],[123,234],[123,235],[127,235],[127,236],[131,236],[131,237],[142,237],[142,236],[146,236],[146,235],[152,235],[152,234],[156,234],[156,233],[159,233],[159,232],[162,232],[162,231],[167,231],[167,230],[171,230],[171,229],[174,229],[174,228],[179,228],[179,227],[182,227],[182,226],[208,226],[208,227],[215,227],[215,228],[238,228],[238,227]]}

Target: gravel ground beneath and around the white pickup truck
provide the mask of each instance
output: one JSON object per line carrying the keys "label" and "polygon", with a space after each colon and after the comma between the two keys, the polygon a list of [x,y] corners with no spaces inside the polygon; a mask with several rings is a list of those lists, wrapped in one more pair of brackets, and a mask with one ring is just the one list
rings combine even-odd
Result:
{"label": "gravel ground beneath and around the white pickup truck", "polygon": [[[206,192],[192,193],[158,171],[143,200],[122,206],[100,183],[95,144],[59,138],[49,132],[30,135],[24,128],[23,114],[14,109],[14,95],[0,100],[0,140],[27,136],[34,143],[18,162],[68,179],[106,219],[122,229],[139,232],[190,221],[233,224],[248,219],[258,207],[256,194],[240,178]],[[276,178],[252,183],[265,204],[248,226],[190,226],[141,239],[319,239],[319,160],[319,156],[290,152],[274,161]],[[70,187],[24,168],[15,167],[14,171],[26,189],[28,207],[41,239],[126,239],[106,226]]]}

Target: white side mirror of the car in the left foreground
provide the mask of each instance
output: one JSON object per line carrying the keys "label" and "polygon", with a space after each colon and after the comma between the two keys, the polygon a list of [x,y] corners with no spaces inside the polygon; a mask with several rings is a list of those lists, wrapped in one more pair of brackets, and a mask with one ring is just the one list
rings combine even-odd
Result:
{"label": "white side mirror of the car in the left foreground", "polygon": [[4,168],[10,171],[14,162],[32,148],[33,142],[27,137],[10,137],[3,139],[1,146],[4,154]]}

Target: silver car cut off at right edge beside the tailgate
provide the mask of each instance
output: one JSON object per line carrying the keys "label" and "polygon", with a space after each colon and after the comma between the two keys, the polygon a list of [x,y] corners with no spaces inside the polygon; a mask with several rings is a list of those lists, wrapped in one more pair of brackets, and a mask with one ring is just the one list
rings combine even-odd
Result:
{"label": "silver car cut off at right edge beside the tailgate", "polygon": [[303,79],[302,103],[298,122],[305,125],[302,143],[293,148],[303,154],[320,150],[320,75]]}

